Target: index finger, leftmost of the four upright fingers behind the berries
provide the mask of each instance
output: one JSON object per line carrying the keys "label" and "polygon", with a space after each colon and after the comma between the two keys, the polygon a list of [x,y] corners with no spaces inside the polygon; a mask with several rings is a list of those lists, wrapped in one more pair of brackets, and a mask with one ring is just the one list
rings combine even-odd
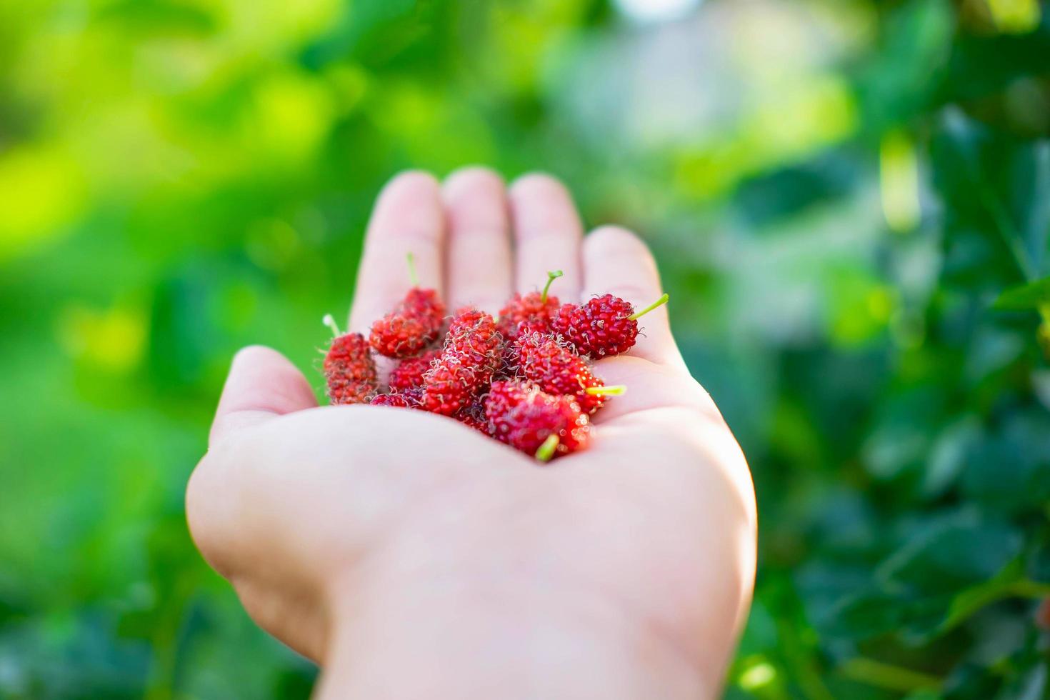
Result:
{"label": "index finger, leftmost of the four upright fingers behind the berries", "polygon": [[412,287],[407,255],[415,257],[419,285],[442,292],[444,211],[433,175],[410,171],[386,184],[364,238],[350,327],[368,332]]}

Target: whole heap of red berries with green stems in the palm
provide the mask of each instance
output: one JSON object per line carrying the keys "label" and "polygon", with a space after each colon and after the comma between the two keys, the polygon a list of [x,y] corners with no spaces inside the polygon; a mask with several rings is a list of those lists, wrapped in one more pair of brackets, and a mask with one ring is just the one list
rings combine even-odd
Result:
{"label": "whole heap of red berries with green stems in the palm", "polygon": [[[625,390],[595,377],[588,360],[630,349],[637,319],[668,300],[637,312],[611,294],[562,304],[548,294],[562,276],[554,271],[542,292],[514,294],[498,318],[472,306],[446,318],[437,292],[416,284],[411,255],[408,267],[415,287],[368,338],[324,318],[335,334],[323,364],[329,401],[447,416],[541,462],[587,447],[590,417]],[[376,354],[399,361],[386,387]]]}

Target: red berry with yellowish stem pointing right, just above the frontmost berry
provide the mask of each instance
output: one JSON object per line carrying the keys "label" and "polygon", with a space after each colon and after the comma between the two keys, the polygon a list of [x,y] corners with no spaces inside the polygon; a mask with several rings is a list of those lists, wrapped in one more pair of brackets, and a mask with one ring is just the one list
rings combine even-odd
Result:
{"label": "red berry with yellowish stem pointing right, just above the frontmost berry", "polygon": [[514,342],[512,356],[521,377],[547,394],[575,398],[585,413],[593,413],[605,404],[603,397],[587,393],[588,388],[603,386],[604,382],[591,373],[583,358],[553,336],[523,335]]}

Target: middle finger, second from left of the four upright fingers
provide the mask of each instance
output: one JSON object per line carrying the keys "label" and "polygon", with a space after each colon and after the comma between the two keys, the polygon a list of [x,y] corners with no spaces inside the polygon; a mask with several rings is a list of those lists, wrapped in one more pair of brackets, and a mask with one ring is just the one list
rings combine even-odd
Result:
{"label": "middle finger, second from left of the four upright fingers", "polygon": [[503,179],[486,168],[465,168],[448,176],[442,196],[448,222],[448,306],[472,304],[495,314],[513,288]]}

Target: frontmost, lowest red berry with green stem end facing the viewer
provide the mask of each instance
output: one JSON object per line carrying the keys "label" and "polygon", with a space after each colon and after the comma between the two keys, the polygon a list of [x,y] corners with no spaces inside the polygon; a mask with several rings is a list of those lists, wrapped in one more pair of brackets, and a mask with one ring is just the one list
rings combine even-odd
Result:
{"label": "frontmost, lowest red berry with green stem end facing the viewer", "polygon": [[494,382],[485,417],[494,438],[529,455],[550,436],[558,437],[554,457],[583,449],[590,441],[590,421],[580,404],[528,382]]}

